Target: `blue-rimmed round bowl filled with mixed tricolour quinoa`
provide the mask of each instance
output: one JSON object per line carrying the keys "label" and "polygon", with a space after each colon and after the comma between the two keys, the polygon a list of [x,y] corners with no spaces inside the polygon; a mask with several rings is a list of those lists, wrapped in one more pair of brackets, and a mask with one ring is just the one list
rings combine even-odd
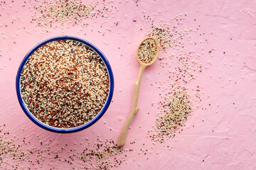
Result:
{"label": "blue-rimmed round bowl filled with mixed tricolour quinoa", "polygon": [[33,123],[53,132],[78,132],[107,111],[114,91],[110,63],[86,40],[44,40],[24,57],[16,92]]}

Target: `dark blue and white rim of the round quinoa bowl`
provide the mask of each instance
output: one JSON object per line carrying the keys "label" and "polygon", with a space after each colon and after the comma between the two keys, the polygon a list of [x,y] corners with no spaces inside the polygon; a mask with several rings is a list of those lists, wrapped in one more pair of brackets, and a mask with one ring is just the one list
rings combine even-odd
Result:
{"label": "dark blue and white rim of the round quinoa bowl", "polygon": [[[75,128],[55,128],[53,126],[46,125],[45,123],[42,123],[40,120],[38,120],[28,110],[28,108],[26,108],[26,105],[23,102],[23,99],[22,99],[22,96],[21,96],[21,86],[20,85],[21,85],[21,72],[22,72],[23,66],[26,64],[28,58],[33,54],[33,52],[35,52],[38,49],[38,47],[41,47],[42,45],[45,45],[46,43],[51,42],[51,41],[55,41],[55,40],[76,40],[76,41],[82,42],[85,45],[91,47],[92,50],[95,50],[95,52],[97,52],[97,54],[99,54],[100,57],[102,58],[102,60],[105,62],[105,65],[107,67],[107,72],[108,72],[108,75],[109,75],[109,79],[110,79],[109,94],[107,96],[107,101],[105,102],[105,105],[103,106],[101,111],[95,116],[95,118],[93,118],[89,122],[85,123],[84,125],[80,125],[78,127],[75,127]],[[92,45],[92,43],[88,42],[87,40],[83,40],[82,38],[77,38],[77,37],[74,37],[74,36],[64,35],[64,36],[58,36],[58,37],[53,37],[53,38],[49,38],[47,40],[44,40],[43,42],[40,42],[38,45],[33,47],[30,52],[28,52],[28,54],[22,60],[20,67],[18,68],[18,73],[17,73],[17,76],[16,76],[16,92],[17,92],[17,96],[18,96],[18,102],[20,103],[21,108],[26,113],[28,118],[30,118],[33,121],[33,123],[36,123],[36,125],[38,125],[39,127],[43,128],[43,129],[46,129],[46,130],[50,130],[52,132],[59,132],[59,133],[78,132],[78,131],[84,130],[85,128],[88,128],[91,125],[93,125],[94,123],[96,123],[97,120],[99,120],[102,117],[102,115],[104,115],[104,113],[107,111],[107,108],[110,106],[112,96],[113,96],[113,92],[114,92],[114,76],[113,76],[112,69],[110,67],[110,62],[108,62],[105,55],[97,47],[95,47],[95,45]]]}

